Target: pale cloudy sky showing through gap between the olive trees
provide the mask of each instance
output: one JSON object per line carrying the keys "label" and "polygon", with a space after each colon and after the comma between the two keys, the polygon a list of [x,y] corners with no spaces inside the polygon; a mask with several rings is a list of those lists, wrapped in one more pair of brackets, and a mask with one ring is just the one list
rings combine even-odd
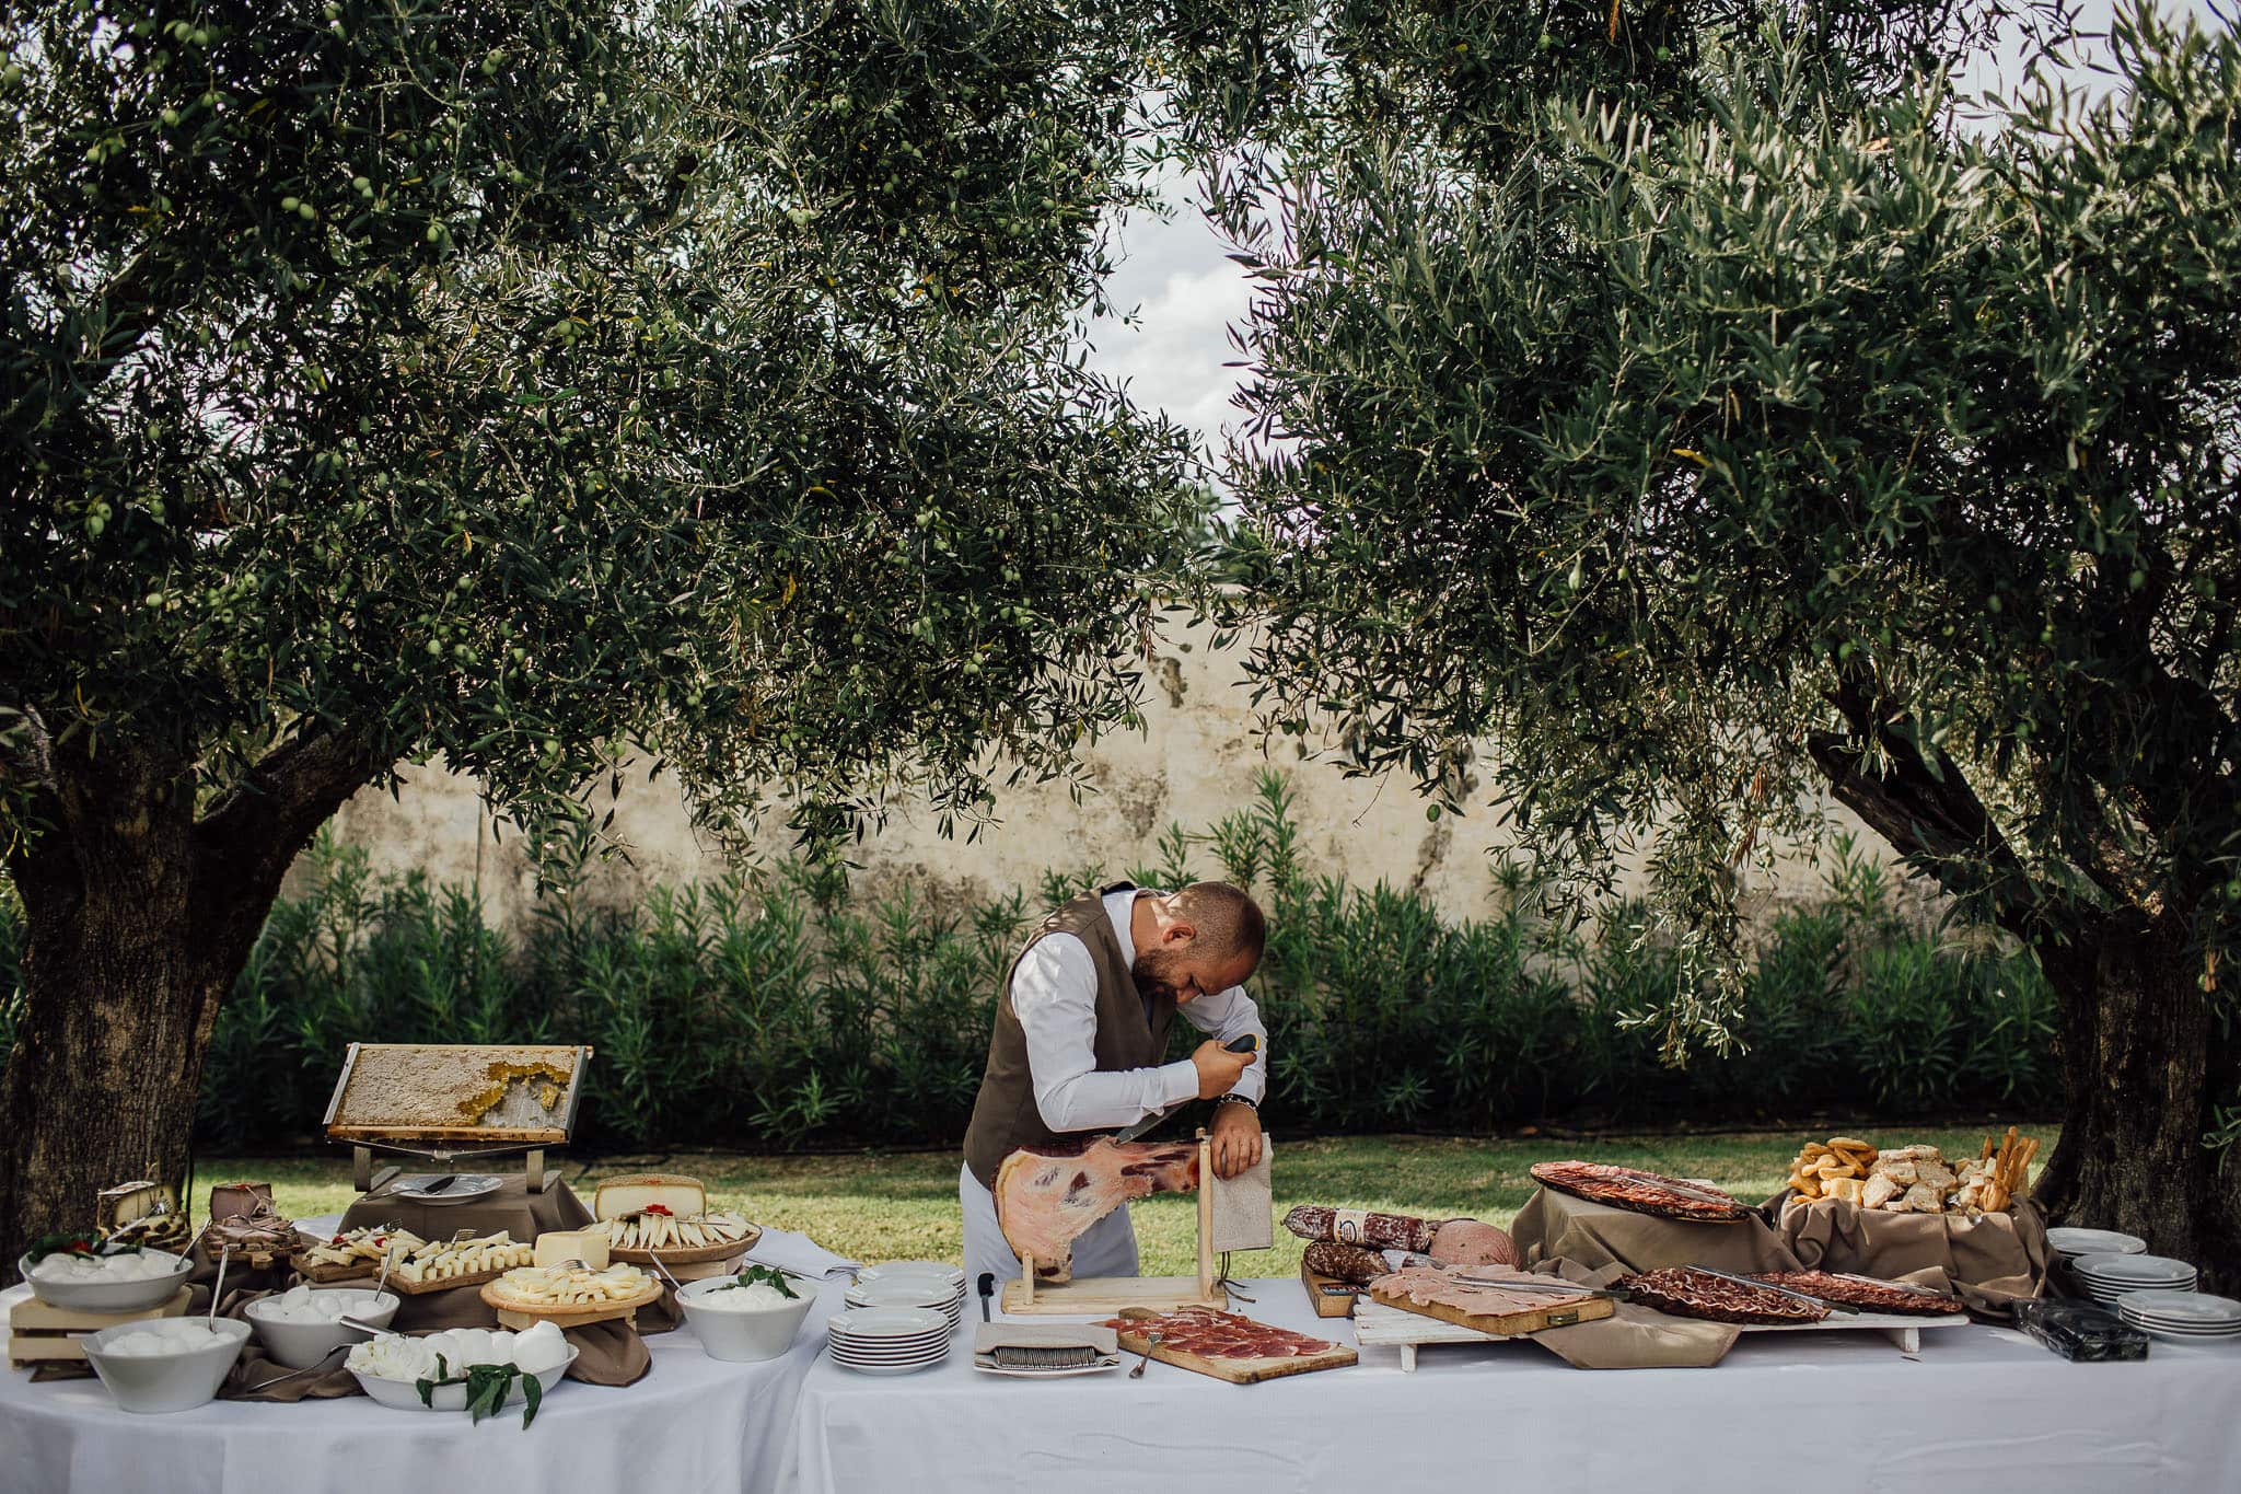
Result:
{"label": "pale cloudy sky showing through gap between the olive trees", "polygon": [[[2111,0],[2084,0],[2080,29],[2102,31]],[[2210,0],[2185,0],[2165,9],[2194,11],[2216,25]],[[1981,90],[1999,81],[2001,67],[1986,65],[1965,78]],[[2091,85],[2091,74],[2082,85]],[[1183,197],[1183,193],[1170,193]],[[1129,381],[1136,403],[1159,408],[1197,432],[1208,450],[1219,450],[1221,428],[1237,414],[1230,394],[1244,370],[1221,367],[1237,358],[1228,327],[1244,318],[1250,293],[1206,222],[1179,206],[1172,222],[1141,217],[1123,231],[1125,255],[1114,271],[1116,307],[1134,307],[1141,325],[1098,323],[1091,363]]]}

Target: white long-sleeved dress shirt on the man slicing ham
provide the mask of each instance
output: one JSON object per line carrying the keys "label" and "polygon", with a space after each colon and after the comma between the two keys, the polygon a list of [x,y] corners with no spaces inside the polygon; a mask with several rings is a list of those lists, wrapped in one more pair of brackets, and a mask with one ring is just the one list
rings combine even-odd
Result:
{"label": "white long-sleeved dress shirt on the man slicing ham", "polygon": [[[1138,896],[1141,889],[1105,894],[1105,916],[1129,968],[1136,965],[1129,925]],[[1011,974],[1011,1010],[1026,1033],[1035,1109],[1053,1131],[1125,1127],[1199,1095],[1199,1071],[1190,1059],[1098,1073],[1098,970],[1089,945],[1073,934],[1044,934],[1029,945]],[[1246,1033],[1259,1039],[1259,1053],[1230,1091],[1259,1104],[1268,1089],[1268,1028],[1244,986],[1179,1001],[1174,1010],[1215,1042],[1228,1044]]]}

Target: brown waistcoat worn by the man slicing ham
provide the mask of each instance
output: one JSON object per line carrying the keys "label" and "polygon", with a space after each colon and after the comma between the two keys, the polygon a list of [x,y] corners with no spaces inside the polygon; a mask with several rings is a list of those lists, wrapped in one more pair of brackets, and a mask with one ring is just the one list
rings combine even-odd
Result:
{"label": "brown waistcoat worn by the man slicing ham", "polygon": [[[1174,1024],[1174,997],[1159,997],[1152,1017],[1145,1021],[1143,997],[1129,979],[1129,956],[1114,936],[1114,923],[1105,916],[1105,894],[1129,889],[1129,883],[1114,883],[1098,891],[1082,894],[1053,912],[1022,945],[1020,954],[1035,947],[1049,934],[1073,934],[1089,945],[1089,963],[1098,972],[1098,1071],[1150,1068],[1168,1053],[1168,1028]],[[1004,992],[995,1003],[995,1030],[988,1035],[988,1068],[982,1073],[979,1095],[973,1100],[973,1124],[966,1127],[966,1167],[984,1187],[995,1185],[995,1169],[1020,1147],[1044,1147],[1058,1140],[1058,1131],[1042,1122],[1035,1109],[1035,1080],[1026,1066],[1026,1030],[1011,1006],[1011,977],[1020,961],[1004,972]]]}

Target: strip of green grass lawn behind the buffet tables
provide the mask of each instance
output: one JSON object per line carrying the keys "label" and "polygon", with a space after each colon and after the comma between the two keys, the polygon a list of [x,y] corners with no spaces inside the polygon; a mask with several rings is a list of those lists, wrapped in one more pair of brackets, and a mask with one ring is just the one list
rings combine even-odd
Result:
{"label": "strip of green grass lawn behind the buffet tables", "polygon": [[[1880,1147],[1932,1142],[1947,1156],[1974,1156],[1983,1131],[1856,1131]],[[2053,1149],[2053,1127],[2039,1131]],[[1275,1158],[1275,1212],[1295,1203],[1333,1203],[1396,1214],[1452,1218],[1468,1214],[1508,1225],[1533,1192],[1533,1162],[1584,1158],[1647,1167],[1670,1176],[1710,1178],[1728,1192],[1770,1196],[1806,1138],[1766,1136],[1645,1136],[1609,1140],[1441,1140],[1416,1136],[1342,1136],[1284,1142]],[[1813,1138],[1826,1140],[1826,1138]],[[748,1218],[813,1236],[858,1261],[961,1261],[957,1167],[952,1151],[883,1156],[737,1156],[668,1151],[612,1156],[565,1167],[569,1185],[592,1198],[589,1185],[623,1171],[684,1171],[708,1185],[713,1201]],[[195,1212],[208,1203],[211,1183],[258,1178],[273,1185],[282,1214],[338,1214],[356,1196],[343,1158],[213,1158],[197,1169]],[[1197,1205],[1188,1196],[1159,1196],[1134,1205],[1145,1274],[1194,1270]],[[1291,1274],[1302,1243],[1277,1230],[1277,1248],[1233,1261],[1246,1277]]]}

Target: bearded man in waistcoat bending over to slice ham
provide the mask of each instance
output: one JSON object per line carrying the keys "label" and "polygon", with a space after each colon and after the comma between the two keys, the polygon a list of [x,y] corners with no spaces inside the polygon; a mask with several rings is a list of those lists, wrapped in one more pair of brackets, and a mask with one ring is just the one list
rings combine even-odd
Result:
{"label": "bearded man in waistcoat bending over to slice ham", "polygon": [[[1228,883],[1181,891],[1114,883],[1042,921],[997,999],[988,1068],[966,1129],[957,1201],[968,1279],[1020,1274],[991,1192],[1020,1147],[1087,1140],[1190,1100],[1217,1100],[1208,1127],[1215,1171],[1235,1178],[1259,1162],[1268,1028],[1244,981],[1264,943],[1259,907]],[[1208,1039],[1188,1059],[1163,1064],[1177,1012]],[[1248,1037],[1246,1053],[1226,1046]],[[1125,1207],[1073,1241],[1073,1274],[1136,1274],[1136,1230]]]}

